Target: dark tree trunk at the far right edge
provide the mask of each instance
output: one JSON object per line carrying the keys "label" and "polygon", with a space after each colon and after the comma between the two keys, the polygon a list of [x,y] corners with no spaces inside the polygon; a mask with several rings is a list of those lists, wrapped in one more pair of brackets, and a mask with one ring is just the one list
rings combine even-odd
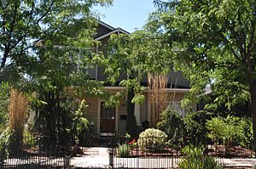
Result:
{"label": "dark tree trunk at the far right edge", "polygon": [[256,82],[250,85],[251,100],[249,102],[249,110],[253,117],[253,149],[256,152]]}

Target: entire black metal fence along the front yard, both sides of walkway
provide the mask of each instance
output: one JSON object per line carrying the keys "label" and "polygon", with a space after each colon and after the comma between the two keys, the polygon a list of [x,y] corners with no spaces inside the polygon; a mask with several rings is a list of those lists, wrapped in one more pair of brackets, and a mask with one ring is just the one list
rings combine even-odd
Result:
{"label": "entire black metal fence along the front yard, both sides of walkway", "polygon": [[[47,137],[24,137],[22,144],[18,140],[6,144],[1,150],[0,168],[68,168],[72,156],[82,158],[100,157],[99,143],[73,146],[51,144]],[[161,138],[125,138],[113,136],[108,145],[109,166],[113,168],[177,168],[183,160],[182,147],[166,144]],[[102,143],[100,143],[102,144]],[[241,147],[227,148],[224,145],[204,145],[204,155],[213,156],[219,165],[223,158],[251,158],[253,150]],[[4,156],[4,158],[3,158]],[[108,160],[108,157],[107,157]]]}

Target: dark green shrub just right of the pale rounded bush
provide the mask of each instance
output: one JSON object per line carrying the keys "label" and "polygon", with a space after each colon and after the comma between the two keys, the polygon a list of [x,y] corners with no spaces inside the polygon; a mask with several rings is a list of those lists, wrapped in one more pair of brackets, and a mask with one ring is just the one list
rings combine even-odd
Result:
{"label": "dark green shrub just right of the pale rounded bush", "polygon": [[157,124],[163,132],[166,132],[172,144],[182,144],[183,141],[183,118],[176,110],[164,110],[160,114],[160,122]]}

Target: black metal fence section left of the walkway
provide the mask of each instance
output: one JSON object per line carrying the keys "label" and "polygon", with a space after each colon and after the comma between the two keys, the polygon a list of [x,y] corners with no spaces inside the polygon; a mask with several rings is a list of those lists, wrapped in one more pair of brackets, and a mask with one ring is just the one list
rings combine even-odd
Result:
{"label": "black metal fence section left of the walkway", "polygon": [[26,136],[22,141],[10,139],[1,149],[0,168],[67,168],[71,148],[45,144],[47,137]]}

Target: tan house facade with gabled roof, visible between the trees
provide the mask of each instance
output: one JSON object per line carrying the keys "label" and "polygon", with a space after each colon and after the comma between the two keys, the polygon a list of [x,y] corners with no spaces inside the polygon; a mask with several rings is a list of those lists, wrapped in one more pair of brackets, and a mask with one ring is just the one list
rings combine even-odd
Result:
{"label": "tan house facade with gabled roof, visible between the trees", "polygon": [[[96,29],[96,40],[101,41],[101,46],[96,46],[94,52],[102,52],[104,54],[104,48],[108,43],[108,40],[112,34],[129,34],[129,32],[121,29],[114,28],[111,25],[99,21],[98,27]],[[95,66],[94,69],[89,70],[90,78],[95,79],[96,81],[105,81],[108,75],[104,74],[104,67]],[[125,74],[119,76],[118,81],[126,78]],[[148,84],[147,77],[144,77],[142,84]],[[175,85],[173,85],[175,84]],[[189,93],[189,81],[183,77],[182,72],[170,72],[168,75],[168,88],[167,95],[169,100],[166,103],[172,109],[177,110],[181,115],[184,115],[184,110],[181,107],[181,100],[184,98],[186,93]],[[124,90],[124,87],[119,86],[105,86],[104,89],[108,93],[117,93],[120,90]],[[141,127],[144,121],[149,122],[150,126],[150,94],[148,91],[143,93],[145,96],[145,101],[143,104],[135,104],[135,116],[137,120],[137,127]],[[118,132],[119,134],[125,134],[126,127],[126,97],[119,101],[119,105],[115,108],[105,108],[103,106],[104,101],[96,98],[86,98],[86,103],[89,105],[86,108],[86,117],[90,121],[90,127],[92,131],[96,133],[97,136],[104,136],[112,133],[113,131]],[[191,104],[190,107],[192,110],[196,109],[196,104]]]}

